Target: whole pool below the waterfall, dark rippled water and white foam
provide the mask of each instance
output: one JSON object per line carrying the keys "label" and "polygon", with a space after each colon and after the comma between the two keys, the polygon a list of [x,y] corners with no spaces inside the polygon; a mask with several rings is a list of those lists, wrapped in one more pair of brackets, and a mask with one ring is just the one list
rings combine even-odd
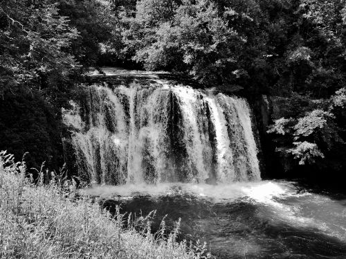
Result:
{"label": "whole pool below the waterfall, dark rippled water and white foam", "polygon": [[217,258],[346,258],[346,197],[293,182],[232,185],[98,186],[104,206],[146,215],[154,229],[181,218],[181,238],[201,240]]}

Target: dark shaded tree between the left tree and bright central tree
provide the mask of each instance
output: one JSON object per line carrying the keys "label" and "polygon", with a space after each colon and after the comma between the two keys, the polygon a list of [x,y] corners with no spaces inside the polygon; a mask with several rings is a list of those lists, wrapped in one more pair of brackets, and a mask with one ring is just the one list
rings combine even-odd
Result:
{"label": "dark shaded tree between the left tree and bright central tree", "polygon": [[60,15],[69,17],[69,24],[80,34],[71,41],[71,53],[84,66],[102,65],[104,60],[108,62],[119,55],[121,39],[116,8],[120,8],[120,3],[114,2],[63,0],[57,5]]}

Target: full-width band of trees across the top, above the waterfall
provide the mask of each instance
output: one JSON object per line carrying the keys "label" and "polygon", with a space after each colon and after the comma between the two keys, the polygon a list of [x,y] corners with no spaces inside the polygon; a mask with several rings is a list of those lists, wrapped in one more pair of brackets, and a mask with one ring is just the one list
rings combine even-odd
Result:
{"label": "full-width band of trees across the top, above the waterfall", "polygon": [[83,66],[176,71],[228,90],[329,98],[344,1],[1,1],[1,93],[60,89]]}

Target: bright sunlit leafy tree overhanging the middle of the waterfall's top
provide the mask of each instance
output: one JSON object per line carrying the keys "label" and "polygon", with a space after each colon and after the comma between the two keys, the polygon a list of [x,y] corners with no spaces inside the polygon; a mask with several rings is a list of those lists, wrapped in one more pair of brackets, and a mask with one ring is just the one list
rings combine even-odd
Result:
{"label": "bright sunlit leafy tree overhanging the middle of the waterfall's top", "polygon": [[246,42],[228,27],[227,15],[206,0],[138,1],[133,16],[122,16],[124,51],[149,70],[183,71],[202,83],[227,84],[242,73],[235,63]]}

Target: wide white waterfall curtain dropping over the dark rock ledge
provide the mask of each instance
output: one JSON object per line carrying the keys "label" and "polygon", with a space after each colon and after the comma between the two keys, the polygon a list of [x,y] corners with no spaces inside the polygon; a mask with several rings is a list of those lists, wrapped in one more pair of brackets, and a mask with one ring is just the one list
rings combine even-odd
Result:
{"label": "wide white waterfall curtain dropping over the dark rock ledge", "polygon": [[95,184],[260,180],[243,98],[181,85],[93,84],[64,110],[78,175]]}

